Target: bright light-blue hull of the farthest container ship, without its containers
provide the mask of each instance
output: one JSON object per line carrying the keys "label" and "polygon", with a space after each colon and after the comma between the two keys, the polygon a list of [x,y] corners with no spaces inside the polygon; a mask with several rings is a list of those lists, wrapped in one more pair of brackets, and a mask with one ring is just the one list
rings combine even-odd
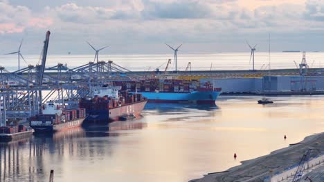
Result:
{"label": "bright light-blue hull of the farthest container ship, without its containers", "polygon": [[143,94],[148,101],[161,103],[215,103],[219,96],[219,91],[193,91],[190,93],[183,92],[137,92]]}

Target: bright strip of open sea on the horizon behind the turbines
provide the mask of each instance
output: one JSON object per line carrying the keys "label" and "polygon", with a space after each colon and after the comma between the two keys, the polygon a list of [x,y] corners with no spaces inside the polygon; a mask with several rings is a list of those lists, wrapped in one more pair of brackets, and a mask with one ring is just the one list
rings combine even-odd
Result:
{"label": "bright strip of open sea on the horizon behind the turbines", "polygon": [[[251,70],[249,51],[246,52],[219,52],[209,54],[183,54],[178,52],[178,70],[186,70],[188,62],[192,64],[192,70]],[[39,55],[24,55],[26,62],[21,60],[21,68],[26,68],[28,64],[36,65],[40,63]],[[271,69],[296,68],[296,63],[300,63],[303,58],[302,52],[272,52]],[[168,59],[173,59],[173,54],[100,54],[100,60],[114,61],[132,71],[160,70],[165,69]],[[307,52],[307,63],[309,68],[322,68],[324,65],[323,52]],[[48,52],[46,67],[66,63],[69,68],[75,68],[93,61],[93,55],[53,55]],[[269,53],[255,52],[255,69],[269,69]],[[17,70],[17,56],[0,55],[0,65],[9,71]],[[161,67],[160,67],[161,66]],[[170,65],[170,70],[174,70],[174,63]]]}

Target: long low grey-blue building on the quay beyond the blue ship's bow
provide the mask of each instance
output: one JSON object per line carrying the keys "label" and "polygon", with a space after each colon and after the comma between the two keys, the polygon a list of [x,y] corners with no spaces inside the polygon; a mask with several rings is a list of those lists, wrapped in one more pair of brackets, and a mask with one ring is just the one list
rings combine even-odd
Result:
{"label": "long low grey-blue building on the quay beyond the blue ship's bow", "polygon": [[323,76],[264,76],[262,78],[213,79],[222,94],[324,94]]}

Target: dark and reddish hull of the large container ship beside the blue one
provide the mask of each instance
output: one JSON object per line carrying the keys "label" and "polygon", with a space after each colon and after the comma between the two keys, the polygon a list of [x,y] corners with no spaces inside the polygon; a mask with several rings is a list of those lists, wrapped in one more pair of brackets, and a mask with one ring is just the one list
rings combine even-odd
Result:
{"label": "dark and reddish hull of the large container ship beside the blue one", "polygon": [[96,128],[107,126],[112,121],[120,120],[120,117],[139,117],[145,107],[147,100],[129,103],[109,110],[87,110],[88,116],[82,123],[83,128]]}

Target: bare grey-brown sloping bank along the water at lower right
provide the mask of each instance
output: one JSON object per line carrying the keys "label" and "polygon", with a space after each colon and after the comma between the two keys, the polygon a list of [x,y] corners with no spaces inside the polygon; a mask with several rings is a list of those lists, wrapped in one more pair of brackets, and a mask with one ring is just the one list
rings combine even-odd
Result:
{"label": "bare grey-brown sloping bank along the water at lower right", "polygon": [[324,151],[324,133],[307,136],[303,141],[289,145],[256,159],[242,161],[242,165],[235,166],[224,172],[210,173],[201,179],[190,182],[218,182],[218,181],[263,181],[264,177],[282,172],[285,168],[298,163],[303,154],[313,148],[310,156],[317,156]]}

